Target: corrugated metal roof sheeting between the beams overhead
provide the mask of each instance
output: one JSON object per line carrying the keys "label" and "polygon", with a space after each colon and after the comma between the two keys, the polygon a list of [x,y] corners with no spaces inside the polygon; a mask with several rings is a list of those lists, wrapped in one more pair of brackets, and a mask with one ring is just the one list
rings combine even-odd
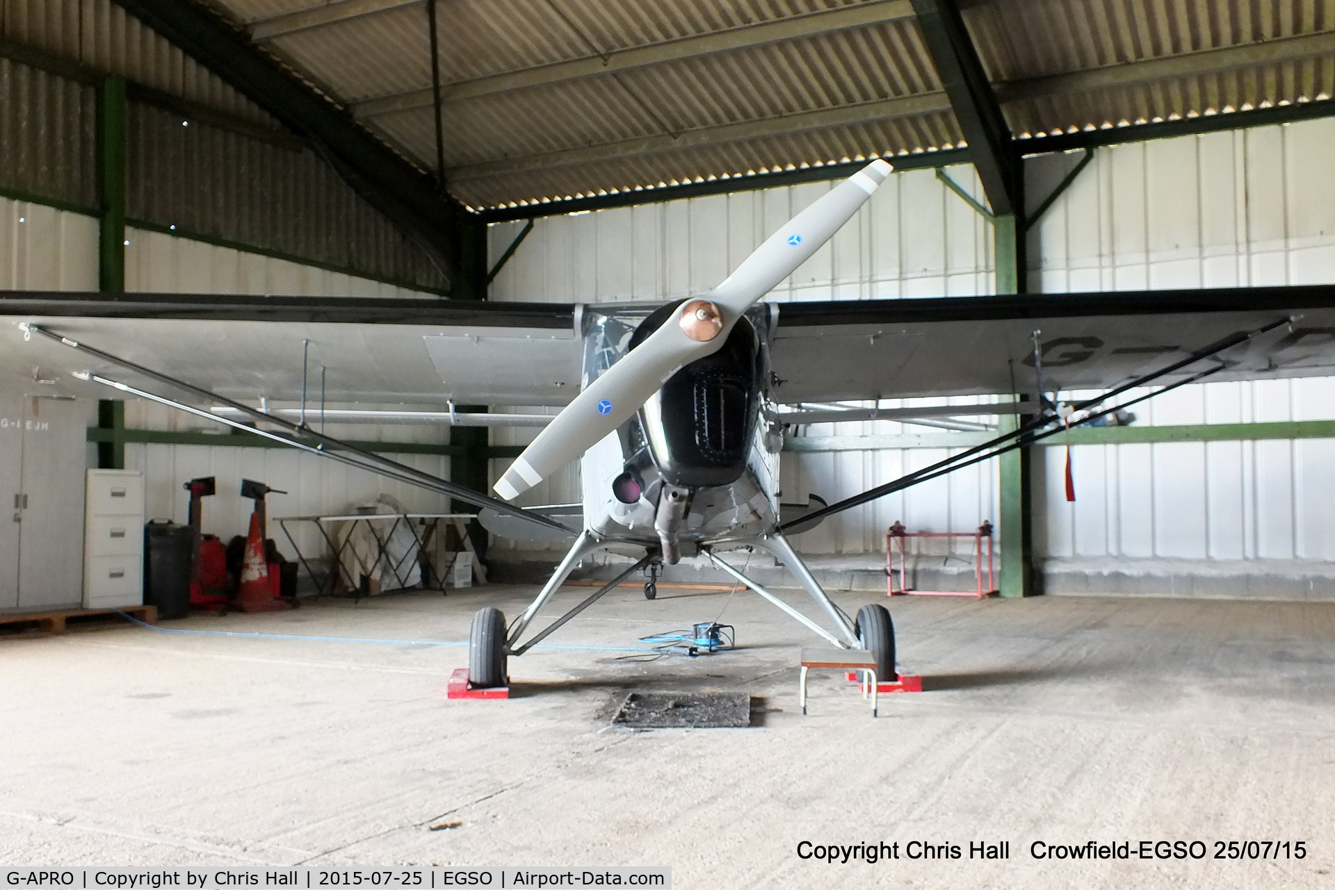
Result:
{"label": "corrugated metal roof sheeting between the beams overhead", "polygon": [[[423,0],[206,1],[435,167]],[[957,1],[1021,137],[1335,93],[1328,0]],[[139,40],[151,59],[131,76],[239,99],[109,0],[0,9],[7,32],[79,57]],[[908,0],[441,0],[438,16],[445,172],[473,207],[960,144]]]}

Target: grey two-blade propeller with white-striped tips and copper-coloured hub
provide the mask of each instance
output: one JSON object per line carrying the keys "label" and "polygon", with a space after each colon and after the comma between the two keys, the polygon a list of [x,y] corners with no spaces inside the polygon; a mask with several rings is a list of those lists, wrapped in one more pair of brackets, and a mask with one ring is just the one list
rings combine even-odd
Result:
{"label": "grey two-blade propeller with white-striped tips and copper-coloured hub", "polygon": [[538,484],[630,419],[682,366],[722,348],[737,319],[852,219],[890,169],[873,160],[770,235],[722,284],[682,303],[538,434],[497,482],[497,494],[513,500]]}

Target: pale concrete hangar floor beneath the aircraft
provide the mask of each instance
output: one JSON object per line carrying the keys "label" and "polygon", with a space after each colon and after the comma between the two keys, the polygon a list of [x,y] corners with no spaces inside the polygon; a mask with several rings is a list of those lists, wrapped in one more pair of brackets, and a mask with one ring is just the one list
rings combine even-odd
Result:
{"label": "pale concrete hangar floor beneath the aircraft", "polygon": [[[531,587],[176,628],[463,640]],[[574,602],[587,588],[565,591]],[[789,591],[792,602],[801,602]],[[870,594],[837,596],[845,607]],[[914,598],[889,697],[813,675],[750,594],[621,590],[549,642],[637,646],[724,610],[738,651],[535,650],[446,699],[447,646],[163,634],[0,642],[0,862],[670,866],[676,887],[1335,886],[1335,603]],[[758,726],[630,731],[629,690],[728,689]],[[458,821],[446,830],[430,826]],[[1041,862],[1029,845],[1306,841],[1302,861]],[[801,841],[1011,841],[1011,859],[826,865]]]}

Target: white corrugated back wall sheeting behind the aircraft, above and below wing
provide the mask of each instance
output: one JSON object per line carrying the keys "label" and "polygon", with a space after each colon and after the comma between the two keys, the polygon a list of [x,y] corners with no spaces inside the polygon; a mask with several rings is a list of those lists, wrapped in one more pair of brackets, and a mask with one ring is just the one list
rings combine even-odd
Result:
{"label": "white corrugated back wall sheeting behind the aircraft, above and below wing", "polygon": [[[1335,282],[1335,121],[1211,133],[1100,149],[1031,232],[1029,279],[1045,292]],[[1080,155],[1027,171],[1037,205]],[[948,171],[971,192],[969,168]],[[693,199],[538,220],[493,286],[502,300],[668,300],[713,287],[758,239],[826,188]],[[522,223],[491,228],[499,255]],[[991,232],[926,171],[893,176],[772,299],[985,294]],[[885,404],[894,404],[886,402]],[[1185,388],[1137,411],[1140,423],[1335,418],[1335,380]],[[813,427],[810,435],[921,431],[889,423]],[[494,434],[525,435],[518,431]],[[506,439],[510,442],[510,439]],[[937,451],[786,454],[785,499],[828,500],[944,456]],[[1065,454],[1040,451],[1039,554],[1056,559],[1335,559],[1335,442],[1218,442],[1075,448],[1077,500],[1063,491]],[[501,464],[501,462],[497,462]],[[501,467],[498,467],[501,468]],[[987,464],[826,522],[808,552],[869,552],[885,527],[968,531],[996,519]],[[573,499],[574,479],[550,500]]]}

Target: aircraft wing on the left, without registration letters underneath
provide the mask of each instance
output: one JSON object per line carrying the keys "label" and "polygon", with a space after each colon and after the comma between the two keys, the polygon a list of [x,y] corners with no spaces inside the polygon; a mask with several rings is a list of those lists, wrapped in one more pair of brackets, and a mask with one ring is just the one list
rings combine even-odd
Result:
{"label": "aircraft wing on the left, without registration letters underneath", "polygon": [[[310,342],[308,399],[457,404],[565,404],[579,391],[577,307],[443,299],[0,292],[0,372],[60,379],[124,370],[31,338],[56,334],[232,399],[298,400]],[[160,388],[160,387],[158,387]]]}

